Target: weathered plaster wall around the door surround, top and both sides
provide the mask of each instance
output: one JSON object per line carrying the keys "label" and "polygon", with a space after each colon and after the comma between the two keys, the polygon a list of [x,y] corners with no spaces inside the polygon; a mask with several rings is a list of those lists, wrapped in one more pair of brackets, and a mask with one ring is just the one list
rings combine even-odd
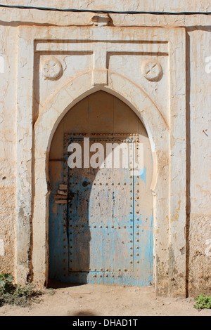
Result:
{"label": "weathered plaster wall around the door surround, top and both sides", "polygon": [[[86,2],[86,4],[85,4]],[[7,1],[1,1],[6,4]],[[11,0],[10,4],[23,4]],[[25,1],[28,6],[49,6],[48,1]],[[51,5],[52,6],[52,5]],[[95,8],[129,11],[210,11],[205,1],[55,1],[54,7]],[[15,268],[15,176],[16,176],[16,94],[18,72],[19,25],[92,25],[91,13],[47,13],[0,8],[0,55],[4,58],[4,72],[0,73],[0,272]],[[110,15],[116,26],[186,27],[187,63],[187,277],[189,294],[208,292],[211,288],[210,207],[210,80],[205,58],[210,54],[210,17],[204,15]],[[50,29],[50,27],[49,27]],[[29,36],[30,38],[30,36]],[[123,63],[124,64],[124,63]],[[111,66],[122,63],[112,58]],[[135,63],[132,63],[135,65]],[[120,69],[120,68],[119,68]],[[120,71],[120,70],[119,70]],[[125,71],[125,70],[124,70]],[[127,76],[127,72],[124,74]],[[135,78],[136,79],[136,78]],[[139,81],[138,81],[139,83]],[[163,83],[164,84],[164,83]],[[148,86],[150,88],[150,84]],[[166,88],[163,86],[163,88]],[[148,92],[148,91],[146,91]],[[24,93],[24,89],[23,89]],[[151,93],[158,104],[168,103]],[[163,109],[165,113],[165,107]],[[168,118],[166,118],[168,121]],[[18,143],[18,141],[17,141]],[[30,173],[30,166],[28,166]],[[184,253],[184,251],[181,251]],[[23,264],[28,260],[23,258]],[[177,270],[179,272],[179,270]]]}

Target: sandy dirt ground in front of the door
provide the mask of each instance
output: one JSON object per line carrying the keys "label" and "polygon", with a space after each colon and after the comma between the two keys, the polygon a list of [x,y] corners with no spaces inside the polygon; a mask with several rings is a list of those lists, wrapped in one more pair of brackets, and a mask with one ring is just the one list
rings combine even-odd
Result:
{"label": "sandy dirt ground in front of the door", "polygon": [[211,316],[211,310],[198,312],[193,308],[193,298],[156,297],[152,286],[84,284],[65,287],[62,284],[58,287],[57,284],[53,295],[47,292],[40,303],[30,308],[4,305],[0,316]]}

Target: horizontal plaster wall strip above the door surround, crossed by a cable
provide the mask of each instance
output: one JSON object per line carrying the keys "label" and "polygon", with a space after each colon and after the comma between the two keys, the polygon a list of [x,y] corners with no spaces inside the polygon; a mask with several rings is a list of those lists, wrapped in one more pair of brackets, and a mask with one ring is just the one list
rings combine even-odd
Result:
{"label": "horizontal plaster wall strip above the door surround, crossed by a cable", "polygon": [[[7,4],[2,0],[1,4]],[[153,1],[128,1],[128,0],[65,0],[53,1],[49,4],[46,0],[11,0],[11,5],[40,6],[53,8],[76,8],[96,9],[110,11],[165,11],[165,12],[203,12],[210,11],[210,4],[204,0],[182,1],[182,0],[153,0]],[[15,11],[15,13],[14,13]],[[205,26],[210,25],[210,18],[205,15],[110,15],[115,26]],[[1,20],[11,22],[14,25],[29,24],[34,22],[41,25],[91,25],[91,13],[62,13],[45,11],[23,11],[21,9],[1,9]]]}

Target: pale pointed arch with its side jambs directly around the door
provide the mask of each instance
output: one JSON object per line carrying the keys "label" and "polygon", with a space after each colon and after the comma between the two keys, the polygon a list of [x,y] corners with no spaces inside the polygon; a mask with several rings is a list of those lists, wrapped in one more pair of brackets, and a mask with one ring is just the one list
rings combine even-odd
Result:
{"label": "pale pointed arch with its side jambs directly around the door", "polygon": [[[49,187],[48,158],[51,139],[60,120],[79,100],[98,90],[120,98],[141,119],[151,142],[153,152],[153,218],[154,218],[154,282],[166,281],[168,272],[168,242],[170,217],[170,145],[169,129],[158,108],[139,86],[115,72],[108,72],[108,86],[92,86],[92,74],[81,74],[60,88],[39,114],[34,125],[34,216],[32,264],[34,282],[44,284],[48,279],[48,218]],[[164,185],[165,184],[165,185]],[[164,189],[165,187],[165,189]],[[165,207],[163,202],[165,201]],[[158,230],[159,228],[159,230]],[[163,233],[165,232],[165,237]],[[157,267],[157,260],[162,270]],[[159,273],[158,273],[159,272]]]}

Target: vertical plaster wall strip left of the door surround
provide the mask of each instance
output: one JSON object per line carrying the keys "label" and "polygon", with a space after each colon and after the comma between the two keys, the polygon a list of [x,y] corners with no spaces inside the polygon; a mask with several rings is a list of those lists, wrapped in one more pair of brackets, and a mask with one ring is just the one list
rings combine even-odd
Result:
{"label": "vertical plaster wall strip left of the door surround", "polygon": [[17,30],[1,26],[0,35],[0,272],[14,272]]}

